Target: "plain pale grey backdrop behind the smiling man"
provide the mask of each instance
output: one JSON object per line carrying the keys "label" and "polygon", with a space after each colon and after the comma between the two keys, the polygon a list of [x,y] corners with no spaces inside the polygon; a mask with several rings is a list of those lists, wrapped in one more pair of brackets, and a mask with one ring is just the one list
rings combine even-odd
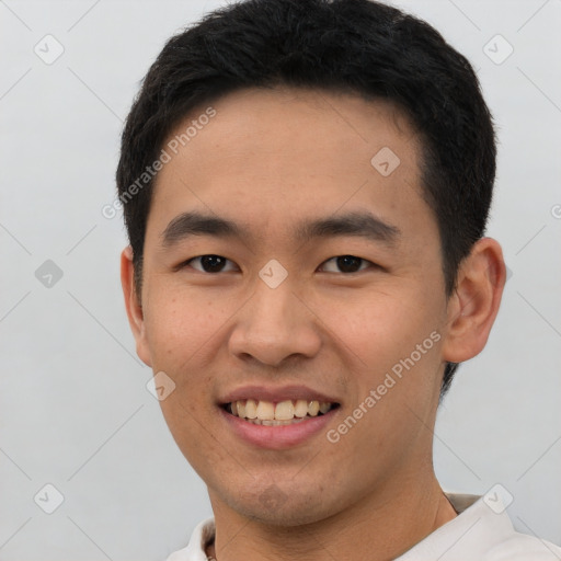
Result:
{"label": "plain pale grey backdrop behind the smiling man", "polygon": [[[219,4],[0,1],[2,560],[163,560],[211,514],[147,391],[118,280],[124,229],[101,210],[139,80]],[[561,1],[398,5],[478,69],[500,139],[489,234],[512,272],[488,348],[439,412],[437,474],[451,491],[501,483],[515,525],[561,543]],[[65,49],[51,64],[34,51],[56,54],[47,34]],[[47,483],[64,496],[50,515]]]}

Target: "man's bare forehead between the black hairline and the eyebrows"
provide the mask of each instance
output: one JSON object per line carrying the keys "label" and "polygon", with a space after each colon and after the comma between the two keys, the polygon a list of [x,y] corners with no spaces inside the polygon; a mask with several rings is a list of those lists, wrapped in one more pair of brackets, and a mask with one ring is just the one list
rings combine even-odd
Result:
{"label": "man's bare forehead between the black hairline and the eyebrows", "polygon": [[209,106],[199,106],[164,144],[170,161],[157,176],[149,216],[160,234],[194,208],[253,224],[262,234],[343,207],[412,222],[430,213],[417,136],[389,102],[279,88],[242,90],[209,105],[211,118],[202,117]]}

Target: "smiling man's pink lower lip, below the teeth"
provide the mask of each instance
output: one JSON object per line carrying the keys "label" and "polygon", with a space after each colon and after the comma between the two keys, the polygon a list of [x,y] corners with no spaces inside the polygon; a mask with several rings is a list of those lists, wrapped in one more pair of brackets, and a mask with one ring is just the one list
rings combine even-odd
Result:
{"label": "smiling man's pink lower lip, below the teeth", "polygon": [[323,415],[306,419],[306,421],[299,423],[278,426],[255,425],[228,413],[222,408],[218,409],[233,433],[242,440],[261,448],[282,450],[302,444],[320,433],[331,422],[340,408],[332,409]]}

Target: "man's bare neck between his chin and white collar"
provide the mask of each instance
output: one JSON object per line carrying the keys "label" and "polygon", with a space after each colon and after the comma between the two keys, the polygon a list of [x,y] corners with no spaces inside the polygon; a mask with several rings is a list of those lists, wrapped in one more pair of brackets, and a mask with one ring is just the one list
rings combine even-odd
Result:
{"label": "man's bare neck between his chin and white collar", "polygon": [[217,533],[207,556],[217,561],[394,559],[456,517],[434,474],[419,483],[386,486],[352,508],[301,526],[247,518],[217,504],[210,493]]}

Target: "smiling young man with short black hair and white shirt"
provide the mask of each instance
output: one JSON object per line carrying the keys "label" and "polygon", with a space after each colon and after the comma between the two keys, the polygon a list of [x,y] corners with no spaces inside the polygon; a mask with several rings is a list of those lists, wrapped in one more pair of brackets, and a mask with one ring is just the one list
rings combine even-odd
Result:
{"label": "smiling young man with short black hair and white shirt", "polygon": [[494,171],[470,65],[393,8],[248,0],[170,39],[117,171],[137,352],[215,515],[170,561],[561,556],[433,469],[505,283]]}

